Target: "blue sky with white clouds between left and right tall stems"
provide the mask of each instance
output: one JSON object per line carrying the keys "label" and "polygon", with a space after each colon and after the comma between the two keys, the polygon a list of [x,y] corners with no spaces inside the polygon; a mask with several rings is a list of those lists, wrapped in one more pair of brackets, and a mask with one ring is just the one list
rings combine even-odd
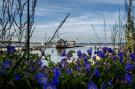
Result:
{"label": "blue sky with white clouds between left and right tall stems", "polygon": [[[112,26],[123,14],[125,0],[37,0],[35,31],[32,42],[49,39],[65,16],[70,16],[59,29],[60,38],[77,42],[109,42]],[[106,33],[104,33],[104,19]],[[94,30],[92,29],[92,26]],[[105,35],[107,37],[105,39]],[[97,39],[100,38],[100,39]],[[78,39],[78,40],[77,40]],[[57,40],[57,39],[56,39]]]}

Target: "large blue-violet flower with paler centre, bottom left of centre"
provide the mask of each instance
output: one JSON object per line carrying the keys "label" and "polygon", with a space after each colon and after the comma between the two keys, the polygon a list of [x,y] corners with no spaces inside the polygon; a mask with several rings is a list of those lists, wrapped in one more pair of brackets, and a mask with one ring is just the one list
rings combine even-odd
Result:
{"label": "large blue-violet flower with paler centre, bottom left of centre", "polygon": [[48,75],[42,72],[36,74],[35,79],[38,81],[39,85],[47,85],[48,83]]}

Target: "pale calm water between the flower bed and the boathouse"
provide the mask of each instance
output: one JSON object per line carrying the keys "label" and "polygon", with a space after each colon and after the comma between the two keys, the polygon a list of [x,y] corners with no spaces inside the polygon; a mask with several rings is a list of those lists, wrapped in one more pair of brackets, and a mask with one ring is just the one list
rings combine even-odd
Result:
{"label": "pale calm water between the flower bed and the boathouse", "polygon": [[[108,46],[108,47],[112,48],[112,46]],[[66,48],[66,49],[48,48],[45,50],[45,54],[51,54],[51,60],[53,62],[57,63],[57,62],[61,61],[61,59],[62,59],[61,54],[64,50],[66,51],[66,53],[71,51],[71,50],[75,51],[75,53],[73,54],[73,57],[77,58],[77,51],[78,50],[81,50],[83,53],[87,53],[87,50],[90,48],[92,48],[92,52],[93,52],[92,55],[94,55],[94,50],[95,50],[94,46],[75,47],[75,48]],[[32,51],[32,53],[37,53],[37,54],[41,55],[40,51]],[[47,64],[46,60],[42,60],[42,61],[43,61],[44,65]]]}

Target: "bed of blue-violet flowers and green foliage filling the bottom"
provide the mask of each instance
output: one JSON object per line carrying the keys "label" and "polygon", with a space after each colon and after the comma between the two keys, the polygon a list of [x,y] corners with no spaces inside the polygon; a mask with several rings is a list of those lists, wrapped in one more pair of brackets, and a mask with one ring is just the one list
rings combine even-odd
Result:
{"label": "bed of blue-violet flowers and green foliage filling the bottom", "polygon": [[[41,57],[19,54],[13,46],[0,53],[1,89],[134,89],[135,54],[126,50],[103,47],[87,53],[79,50],[63,52],[55,64],[45,55],[48,65],[42,65]],[[44,54],[42,55],[44,56]],[[69,62],[70,60],[70,62]]]}

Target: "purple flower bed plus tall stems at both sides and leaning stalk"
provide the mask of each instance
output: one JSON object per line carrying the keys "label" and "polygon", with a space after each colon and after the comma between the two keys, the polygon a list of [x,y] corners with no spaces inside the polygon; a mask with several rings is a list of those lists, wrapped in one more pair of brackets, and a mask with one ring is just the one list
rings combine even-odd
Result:
{"label": "purple flower bed plus tall stems at both sides and leaning stalk", "polygon": [[[114,48],[115,43],[126,42],[124,48],[103,47],[94,50],[94,54],[91,48],[87,53],[78,50],[76,58],[73,57],[73,51],[63,52],[58,63],[54,63],[50,55],[42,53],[38,56],[29,52],[36,3],[37,0],[2,0],[0,40],[3,43],[0,43],[0,47],[7,46],[7,51],[0,50],[0,89],[135,89],[133,0],[127,0],[125,4],[124,24],[120,20],[118,31],[115,28],[112,31]],[[23,17],[26,16],[23,15],[26,7],[27,19]],[[69,15],[45,45],[51,44]],[[18,18],[19,21],[16,20]],[[14,30],[11,31],[11,28]],[[14,46],[10,46],[15,37],[19,43],[25,39],[25,51],[16,51]],[[43,65],[43,56],[46,65]]]}

